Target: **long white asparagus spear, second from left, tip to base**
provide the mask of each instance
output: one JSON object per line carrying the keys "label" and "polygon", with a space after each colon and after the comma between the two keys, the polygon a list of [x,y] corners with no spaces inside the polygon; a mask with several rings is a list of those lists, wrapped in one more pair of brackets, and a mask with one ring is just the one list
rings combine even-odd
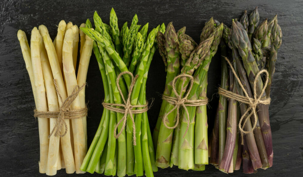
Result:
{"label": "long white asparagus spear, second from left, tip to base", "polygon": [[[47,101],[45,95],[44,80],[42,75],[42,66],[40,59],[40,40],[41,36],[36,27],[32,30],[31,35],[31,58],[32,67],[35,80],[35,91],[37,111],[47,111]],[[46,173],[47,156],[48,156],[48,134],[49,125],[47,118],[38,117],[38,127],[39,127],[39,141],[40,141],[40,161],[39,161],[39,172]]]}

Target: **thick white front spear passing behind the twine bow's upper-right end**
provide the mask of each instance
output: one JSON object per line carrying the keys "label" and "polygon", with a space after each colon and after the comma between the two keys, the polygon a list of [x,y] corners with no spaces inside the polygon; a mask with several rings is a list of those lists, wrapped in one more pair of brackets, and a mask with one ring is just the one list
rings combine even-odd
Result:
{"label": "thick white front spear passing behind the twine bow's upper-right end", "polygon": [[[70,28],[65,32],[62,58],[63,58],[63,73],[65,76],[67,93],[70,95],[73,89],[78,85],[73,65],[73,30]],[[79,96],[72,102],[72,110],[81,109]],[[72,119],[74,151],[75,151],[75,166],[76,173],[84,173],[80,170],[81,164],[85,157],[85,135],[82,119]]]}

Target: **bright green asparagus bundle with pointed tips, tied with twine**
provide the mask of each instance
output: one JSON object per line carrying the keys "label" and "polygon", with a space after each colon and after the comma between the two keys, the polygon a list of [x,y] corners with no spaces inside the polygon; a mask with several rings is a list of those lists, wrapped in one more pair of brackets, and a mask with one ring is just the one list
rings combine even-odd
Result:
{"label": "bright green asparagus bundle with pointed tips, tied with twine", "polygon": [[[138,31],[141,26],[137,22],[135,15],[130,28],[125,22],[119,31],[112,9],[110,25],[102,22],[95,12],[95,30],[89,20],[85,28],[80,28],[94,40],[93,50],[105,90],[105,109],[82,171],[142,176],[145,170],[146,176],[153,176],[153,171],[158,170],[146,112],[145,87],[156,50],[155,37],[158,31],[165,31],[165,26],[159,25],[148,34],[148,23]],[[140,111],[142,109],[145,111]]]}

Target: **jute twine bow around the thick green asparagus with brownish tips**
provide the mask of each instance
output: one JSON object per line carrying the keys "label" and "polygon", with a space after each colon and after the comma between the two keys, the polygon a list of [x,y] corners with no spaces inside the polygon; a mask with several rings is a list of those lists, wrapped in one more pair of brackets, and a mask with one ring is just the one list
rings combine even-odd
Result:
{"label": "jute twine bow around the thick green asparagus with brownish tips", "polygon": [[[177,90],[176,90],[176,81],[178,80],[178,78],[180,77],[188,77],[190,79],[190,85],[189,85],[189,88],[185,94],[184,97],[182,97],[182,90],[180,90],[180,93],[178,94]],[[183,80],[182,82],[182,85],[184,85],[185,83],[185,79]],[[163,124],[165,125],[166,128],[169,128],[169,129],[174,129],[178,126],[179,124],[179,119],[180,119],[180,113],[179,113],[179,109],[180,107],[182,106],[183,109],[185,110],[185,113],[186,113],[186,117],[187,117],[187,128],[186,128],[186,131],[185,131],[185,134],[187,133],[188,131],[188,128],[189,128],[189,124],[190,124],[190,120],[189,120],[189,113],[188,113],[188,110],[186,109],[186,106],[202,106],[202,105],[206,105],[208,103],[208,99],[203,99],[203,100],[188,100],[187,97],[189,96],[190,94],[190,91],[192,89],[192,86],[194,84],[194,77],[192,77],[191,75],[188,75],[188,74],[180,74],[178,76],[176,76],[174,78],[174,80],[172,80],[172,91],[174,92],[175,94],[175,97],[170,97],[170,96],[166,96],[166,95],[163,95],[162,96],[162,99],[163,100],[166,100],[168,103],[172,104],[172,105],[175,105],[175,107],[173,107],[167,114],[165,114],[163,116]],[[169,127],[167,124],[166,124],[166,119],[167,119],[167,116],[168,114],[171,114],[172,111],[174,110],[177,110],[177,116],[175,117],[175,120],[176,120],[176,123],[173,127]],[[184,136],[185,136],[184,134]]]}

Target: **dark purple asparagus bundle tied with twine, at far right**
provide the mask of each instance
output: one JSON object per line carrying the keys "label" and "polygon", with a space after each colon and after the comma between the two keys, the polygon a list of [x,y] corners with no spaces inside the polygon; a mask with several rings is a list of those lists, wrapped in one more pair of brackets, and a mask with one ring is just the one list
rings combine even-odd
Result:
{"label": "dark purple asparagus bundle tied with twine, at far right", "polygon": [[224,27],[210,163],[226,173],[240,169],[241,161],[244,173],[266,169],[273,162],[268,104],[282,32],[277,15],[258,22],[256,8],[249,17],[245,11],[239,22],[233,20],[231,29]]}

